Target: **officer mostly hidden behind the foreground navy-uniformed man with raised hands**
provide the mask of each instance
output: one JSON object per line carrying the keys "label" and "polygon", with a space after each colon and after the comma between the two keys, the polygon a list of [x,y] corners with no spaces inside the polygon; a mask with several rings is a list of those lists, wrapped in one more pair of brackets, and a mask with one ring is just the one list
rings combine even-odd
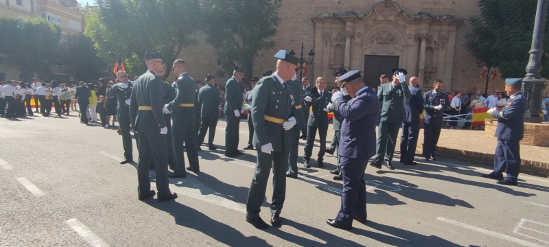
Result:
{"label": "officer mostly hidden behind the foreground navy-uniformed man with raised hands", "polygon": [[[342,86],[342,83],[339,81],[339,77],[341,75],[344,75],[347,72],[349,72],[347,71],[347,69],[342,69],[334,73],[334,75],[336,75],[336,84],[338,85],[338,87]],[[339,92],[334,93],[334,95],[331,96],[332,101],[334,101],[334,99],[336,99],[336,97],[338,97],[340,94],[341,93]],[[338,113],[338,108],[336,108],[336,105],[328,104],[327,108],[329,111],[334,113],[334,121],[332,122],[332,127],[334,128],[334,139],[332,139],[331,146],[329,150],[326,150],[326,152],[329,154],[334,154],[334,152],[337,150],[339,146],[339,139],[341,136],[341,124],[343,122],[343,117]],[[337,164],[338,167],[336,169],[331,170],[330,173],[336,175],[333,178],[334,180],[343,180],[343,178],[341,177],[341,164],[339,163],[339,160],[340,160],[339,153],[337,158],[338,158],[338,164]]]}

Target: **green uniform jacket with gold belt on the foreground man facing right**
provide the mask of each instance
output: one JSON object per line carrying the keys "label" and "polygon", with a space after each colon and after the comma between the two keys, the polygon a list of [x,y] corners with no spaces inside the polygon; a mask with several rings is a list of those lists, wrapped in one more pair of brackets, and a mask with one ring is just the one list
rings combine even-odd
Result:
{"label": "green uniform jacket with gold belt on the foreground man facing right", "polygon": [[290,86],[284,89],[282,82],[279,82],[274,73],[257,82],[252,91],[252,97],[261,100],[252,102],[252,121],[255,128],[253,143],[258,150],[261,145],[271,143],[274,152],[290,151],[295,133],[285,131],[282,124],[265,119],[266,116],[284,120],[296,117],[295,106],[292,105],[290,95]]}

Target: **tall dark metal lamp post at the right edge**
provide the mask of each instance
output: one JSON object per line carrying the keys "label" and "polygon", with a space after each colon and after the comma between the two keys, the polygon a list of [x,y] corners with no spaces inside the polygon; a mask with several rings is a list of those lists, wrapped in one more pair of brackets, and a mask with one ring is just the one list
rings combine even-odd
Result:
{"label": "tall dark metal lamp post at the right edge", "polygon": [[528,123],[541,123],[539,111],[541,110],[541,95],[546,88],[546,82],[541,79],[539,72],[541,71],[541,54],[543,51],[541,45],[544,43],[546,13],[547,0],[538,0],[530,60],[526,65],[526,77],[522,80],[522,93],[528,100],[524,121]]}

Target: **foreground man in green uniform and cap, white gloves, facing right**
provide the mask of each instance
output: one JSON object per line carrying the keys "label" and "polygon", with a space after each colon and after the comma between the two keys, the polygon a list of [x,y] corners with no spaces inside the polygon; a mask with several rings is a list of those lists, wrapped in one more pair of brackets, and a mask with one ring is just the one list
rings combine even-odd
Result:
{"label": "foreground man in green uniform and cap, white gloves, facing right", "polygon": [[[288,152],[295,138],[297,122],[295,102],[292,100],[290,86],[286,81],[296,74],[296,64],[299,60],[281,50],[274,58],[278,58],[277,71],[269,77],[264,77],[257,83],[252,97],[252,121],[255,128],[254,144],[257,148],[257,165],[253,176],[248,200],[246,201],[246,222],[256,228],[268,228],[259,217],[261,204],[265,201],[265,191],[272,167],[272,200],[270,204],[270,223],[280,224],[286,193],[286,169],[288,169]],[[302,114],[300,112],[300,114]]]}

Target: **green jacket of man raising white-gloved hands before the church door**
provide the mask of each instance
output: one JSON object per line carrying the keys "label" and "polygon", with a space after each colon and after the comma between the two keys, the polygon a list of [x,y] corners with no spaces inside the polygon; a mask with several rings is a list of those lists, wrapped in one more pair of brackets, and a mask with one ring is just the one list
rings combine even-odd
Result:
{"label": "green jacket of man raising white-gloved hands before the church door", "polygon": [[393,82],[382,84],[377,91],[377,97],[382,105],[379,121],[389,123],[406,121],[406,110],[404,109],[404,97],[410,97],[410,89],[406,83],[401,83],[391,89]]}

